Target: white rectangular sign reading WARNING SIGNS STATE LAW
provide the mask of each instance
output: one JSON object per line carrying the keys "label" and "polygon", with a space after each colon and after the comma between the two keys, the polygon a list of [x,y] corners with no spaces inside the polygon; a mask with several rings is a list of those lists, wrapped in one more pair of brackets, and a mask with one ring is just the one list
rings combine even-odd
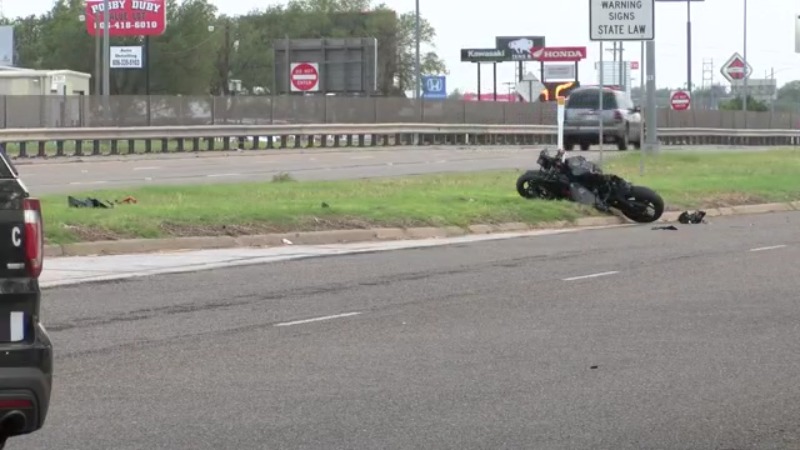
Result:
{"label": "white rectangular sign reading WARNING SIGNS STATE LAW", "polygon": [[589,0],[589,39],[655,39],[655,0]]}

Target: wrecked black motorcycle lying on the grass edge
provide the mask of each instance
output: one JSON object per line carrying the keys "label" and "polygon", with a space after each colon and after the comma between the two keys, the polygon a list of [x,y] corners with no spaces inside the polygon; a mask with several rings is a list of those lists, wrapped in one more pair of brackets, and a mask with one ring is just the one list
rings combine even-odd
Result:
{"label": "wrecked black motorcycle lying on the grass edge", "polygon": [[524,198],[570,200],[603,212],[615,208],[639,223],[655,222],[664,213],[664,200],[655,191],[604,174],[583,156],[564,158],[563,151],[551,156],[545,149],[537,163],[539,170],[528,170],[517,179],[517,192]]}

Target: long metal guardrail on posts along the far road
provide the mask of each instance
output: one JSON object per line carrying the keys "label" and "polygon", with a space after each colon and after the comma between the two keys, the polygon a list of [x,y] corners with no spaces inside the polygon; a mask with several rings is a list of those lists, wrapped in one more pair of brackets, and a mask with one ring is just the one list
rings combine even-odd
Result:
{"label": "long metal guardrail on posts along the far road", "polygon": [[[663,128],[658,132],[662,145],[800,143],[798,130]],[[344,146],[554,145],[556,133],[554,125],[430,123],[26,128],[0,130],[0,142],[10,154],[17,150],[24,158]],[[220,141],[222,148],[217,148]],[[156,142],[160,143],[158,150],[154,149]],[[91,144],[89,153],[86,143]],[[37,149],[34,155],[29,152],[31,144]],[[68,151],[69,144],[73,151]]]}

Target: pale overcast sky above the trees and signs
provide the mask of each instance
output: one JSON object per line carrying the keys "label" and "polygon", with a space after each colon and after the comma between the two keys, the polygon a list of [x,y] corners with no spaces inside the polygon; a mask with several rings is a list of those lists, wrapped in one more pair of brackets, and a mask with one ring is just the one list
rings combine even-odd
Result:
{"label": "pale overcast sky above the trees and signs", "polygon": [[[6,16],[47,11],[52,0],[0,0]],[[746,0],[705,0],[692,2],[692,78],[703,79],[703,59],[713,59],[713,79],[724,82],[720,66],[734,53],[743,53],[744,2]],[[246,13],[282,1],[212,0],[229,14]],[[414,0],[385,0],[398,12],[412,11]],[[475,91],[476,69],[460,61],[461,48],[493,47],[498,35],[543,35],[548,46],[588,46],[589,58],[580,64],[580,81],[596,83],[594,62],[599,58],[597,43],[589,41],[589,6],[586,0],[493,0],[463,2],[420,0],[422,15],[437,31],[436,49],[450,70],[448,90]],[[547,6],[544,6],[547,5]],[[747,59],[753,78],[768,77],[775,69],[781,85],[800,79],[800,54],[794,52],[795,17],[800,0],[750,0],[748,5]],[[88,37],[87,37],[88,39]],[[606,44],[611,46],[610,43]],[[640,59],[640,44],[626,44],[626,60]],[[686,3],[658,3],[656,7],[656,80],[662,87],[679,87],[686,82]],[[628,51],[630,53],[628,53]],[[606,53],[606,58],[611,52]],[[512,81],[513,63],[498,66],[498,90]],[[491,65],[484,66],[483,88],[492,87]],[[634,74],[638,83],[638,73]]]}

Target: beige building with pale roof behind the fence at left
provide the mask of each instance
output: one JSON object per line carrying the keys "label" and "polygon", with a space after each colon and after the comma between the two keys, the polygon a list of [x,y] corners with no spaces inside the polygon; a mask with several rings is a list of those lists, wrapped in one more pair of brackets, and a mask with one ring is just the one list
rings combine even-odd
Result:
{"label": "beige building with pale roof behind the fence at left", "polygon": [[79,126],[91,79],[73,70],[0,67],[0,127]]}

